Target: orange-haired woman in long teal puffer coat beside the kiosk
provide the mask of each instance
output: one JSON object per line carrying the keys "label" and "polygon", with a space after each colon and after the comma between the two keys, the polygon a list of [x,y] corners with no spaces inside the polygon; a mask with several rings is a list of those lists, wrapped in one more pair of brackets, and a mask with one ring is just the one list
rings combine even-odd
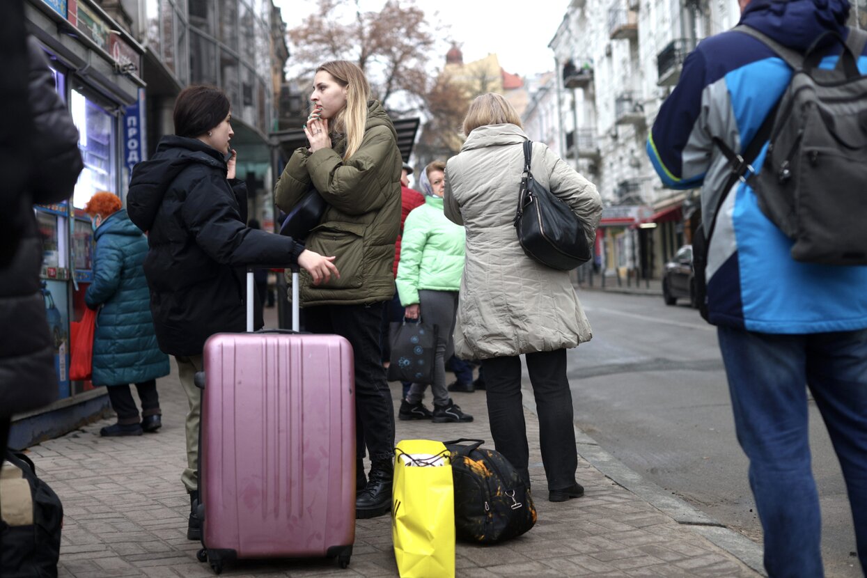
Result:
{"label": "orange-haired woman in long teal puffer coat beside the kiosk", "polygon": [[[94,228],[94,280],[84,294],[88,308],[98,311],[94,333],[95,386],[106,386],[117,423],[101,436],[140,436],[162,426],[157,378],[170,371],[160,351],[150,309],[150,292],[142,263],[147,239],[127,217],[121,199],[97,192],[84,207]],[[141,400],[141,418],[129,384]]]}

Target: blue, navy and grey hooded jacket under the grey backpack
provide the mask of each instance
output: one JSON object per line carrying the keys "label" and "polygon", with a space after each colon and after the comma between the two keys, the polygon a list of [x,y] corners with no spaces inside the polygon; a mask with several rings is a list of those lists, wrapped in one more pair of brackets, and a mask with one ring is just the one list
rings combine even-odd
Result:
{"label": "blue, navy and grey hooded jacket under the grey backpack", "polygon": [[[740,23],[803,52],[825,30],[845,36],[849,9],[846,0],[753,0]],[[833,67],[839,52],[830,48],[822,66]],[[858,68],[867,72],[867,56]],[[743,153],[791,78],[792,69],[751,36],[727,31],[707,38],[688,55],[663,103],[648,154],[664,185],[701,186],[706,232],[716,219],[706,270],[712,323],[771,334],[867,328],[867,266],[793,260],[792,240],[759,210],[750,186],[738,182],[722,191],[730,168],[713,138]],[[757,172],[765,151],[753,162]],[[725,200],[714,215],[720,195]]]}

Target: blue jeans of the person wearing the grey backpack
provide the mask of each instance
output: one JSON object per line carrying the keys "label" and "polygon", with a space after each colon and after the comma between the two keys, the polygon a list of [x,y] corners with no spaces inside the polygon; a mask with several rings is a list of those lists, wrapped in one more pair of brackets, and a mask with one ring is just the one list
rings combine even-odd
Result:
{"label": "blue jeans of the person wearing the grey backpack", "polygon": [[857,553],[867,564],[867,330],[759,334],[717,328],[740,447],[775,576],[822,576],[818,491],[810,465],[807,395],[837,452]]}

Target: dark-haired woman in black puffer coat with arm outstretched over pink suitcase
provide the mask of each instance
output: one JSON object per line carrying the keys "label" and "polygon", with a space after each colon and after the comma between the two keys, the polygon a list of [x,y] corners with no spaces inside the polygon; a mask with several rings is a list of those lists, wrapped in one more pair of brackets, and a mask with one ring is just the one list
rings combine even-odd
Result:
{"label": "dark-haired woman in black puffer coat with arm outstretched over pink suitcase", "polygon": [[[230,102],[218,88],[192,86],[178,95],[175,134],[160,140],[152,159],[134,167],[127,195],[129,218],[147,232],[145,276],[157,341],[178,362],[190,411],[186,415],[190,494],[187,537],[199,540],[200,393],[192,378],[202,370],[205,340],[246,327],[244,268],[294,263],[314,283],[327,282],[335,257],[304,249],[291,237],[249,228],[244,181],[235,178],[236,153],[229,143]],[[255,327],[263,325],[257,316]]]}

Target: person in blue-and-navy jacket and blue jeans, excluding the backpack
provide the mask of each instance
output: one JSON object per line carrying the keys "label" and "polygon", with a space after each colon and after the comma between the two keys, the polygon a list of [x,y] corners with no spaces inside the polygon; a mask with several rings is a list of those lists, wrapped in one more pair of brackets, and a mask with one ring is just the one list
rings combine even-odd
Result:
{"label": "person in blue-and-navy jacket and blue jeans, excluding the backpack", "polygon": [[[845,0],[739,3],[740,24],[798,53],[827,33],[848,34]],[[818,52],[830,66],[838,54],[830,38]],[[855,56],[863,75],[867,51]],[[792,239],[759,208],[753,179],[726,188],[732,167],[714,144],[744,154],[791,79],[792,69],[751,36],[729,31],[703,40],[662,104],[648,151],[664,185],[701,185],[701,226],[714,231],[703,305],[717,326],[735,431],[750,461],[768,575],[824,575],[807,389],[843,470],[867,572],[867,266],[795,261]],[[749,168],[768,170],[761,160]]]}

